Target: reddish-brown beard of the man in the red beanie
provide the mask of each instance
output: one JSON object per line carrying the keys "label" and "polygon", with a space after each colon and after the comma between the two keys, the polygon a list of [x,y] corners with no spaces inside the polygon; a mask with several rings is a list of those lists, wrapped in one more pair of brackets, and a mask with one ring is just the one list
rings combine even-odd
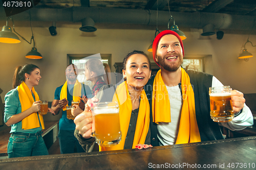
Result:
{"label": "reddish-brown beard of the man in the red beanie", "polygon": [[166,62],[166,58],[169,55],[165,55],[163,58],[161,58],[161,57],[158,58],[159,59],[159,65],[161,67],[163,67],[165,70],[169,71],[169,72],[177,71],[180,68],[180,66],[181,66],[181,64],[183,62],[183,58],[181,57],[180,54],[176,54],[175,53],[173,55],[174,56],[178,56],[178,58],[179,58],[179,62],[178,63],[177,62],[175,62],[175,63],[167,63]]}

